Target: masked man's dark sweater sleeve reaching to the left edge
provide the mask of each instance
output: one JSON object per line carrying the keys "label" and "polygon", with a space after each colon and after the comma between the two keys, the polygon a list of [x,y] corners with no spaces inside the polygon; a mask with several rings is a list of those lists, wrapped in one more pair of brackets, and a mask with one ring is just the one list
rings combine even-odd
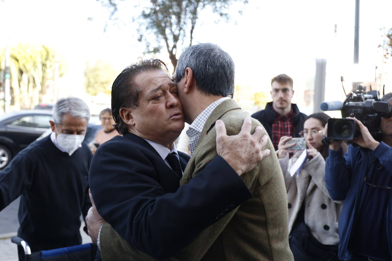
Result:
{"label": "masked man's dark sweater sleeve reaching to the left edge", "polygon": [[29,157],[29,152],[20,151],[0,172],[0,211],[22,195],[33,181],[35,162]]}

